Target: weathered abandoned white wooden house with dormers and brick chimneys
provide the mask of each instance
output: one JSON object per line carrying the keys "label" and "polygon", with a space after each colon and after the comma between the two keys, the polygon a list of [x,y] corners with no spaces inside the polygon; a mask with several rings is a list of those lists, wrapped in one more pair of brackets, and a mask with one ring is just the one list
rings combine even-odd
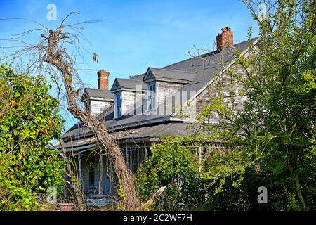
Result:
{"label": "weathered abandoned white wooden house with dormers and brick chimneys", "polygon": [[[257,39],[252,40],[256,44]],[[233,44],[229,27],[216,37],[216,51],[183,60],[164,68],[148,68],[129,79],[115,79],[108,86],[109,72],[98,72],[98,89],[85,89],[81,101],[86,110],[104,122],[117,141],[126,165],[132,172],[151,155],[151,146],[166,136],[188,136],[187,124],[207,104],[214,78],[235,59],[228,49],[246,54],[249,41]],[[234,68],[242,73],[240,68]],[[243,99],[240,99],[242,102]],[[218,116],[208,123],[218,122]],[[114,194],[114,172],[91,131],[77,122],[62,136],[62,147],[76,155],[81,188],[87,198],[106,198]],[[61,146],[59,146],[61,148]]]}

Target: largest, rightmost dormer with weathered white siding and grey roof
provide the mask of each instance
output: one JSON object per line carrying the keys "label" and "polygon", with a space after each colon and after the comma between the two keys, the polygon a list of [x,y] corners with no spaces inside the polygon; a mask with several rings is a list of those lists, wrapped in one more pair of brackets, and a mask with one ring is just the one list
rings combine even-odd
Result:
{"label": "largest, rightmost dormer with weathered white siding and grey roof", "polygon": [[147,111],[155,110],[158,105],[166,103],[185,84],[195,78],[195,72],[148,68],[143,82],[147,89]]}

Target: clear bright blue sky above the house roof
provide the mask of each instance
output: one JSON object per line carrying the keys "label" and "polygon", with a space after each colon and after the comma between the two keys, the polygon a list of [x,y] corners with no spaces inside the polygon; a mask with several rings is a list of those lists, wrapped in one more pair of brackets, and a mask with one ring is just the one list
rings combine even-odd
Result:
{"label": "clear bright blue sky above the house roof", "polygon": [[[46,20],[48,4],[57,6],[57,20]],[[0,0],[0,18],[29,18],[55,28],[72,11],[68,23],[82,20],[100,20],[102,23],[84,25],[84,35],[90,41],[83,42],[87,49],[86,63],[79,68],[110,70],[110,86],[114,78],[138,75],[151,67],[162,67],[189,58],[192,46],[213,49],[216,34],[222,27],[231,27],[234,42],[246,40],[247,28],[256,22],[240,1],[237,0],[176,0],[176,1],[5,1]],[[10,38],[34,28],[27,21],[0,21],[0,39]],[[36,42],[39,33],[25,37]],[[5,46],[0,41],[0,55]],[[92,52],[99,55],[93,62]],[[88,85],[97,86],[93,70],[80,71],[81,79]]]}

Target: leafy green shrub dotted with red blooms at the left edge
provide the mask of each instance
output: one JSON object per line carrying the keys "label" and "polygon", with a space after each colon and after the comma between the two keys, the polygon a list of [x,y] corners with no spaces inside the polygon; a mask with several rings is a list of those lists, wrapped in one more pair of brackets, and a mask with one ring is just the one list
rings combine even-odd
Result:
{"label": "leafy green shrub dotted with red blooms at the left edge", "polygon": [[48,148],[63,124],[49,88],[41,76],[0,67],[0,210],[36,210],[46,188],[63,184],[64,162]]}

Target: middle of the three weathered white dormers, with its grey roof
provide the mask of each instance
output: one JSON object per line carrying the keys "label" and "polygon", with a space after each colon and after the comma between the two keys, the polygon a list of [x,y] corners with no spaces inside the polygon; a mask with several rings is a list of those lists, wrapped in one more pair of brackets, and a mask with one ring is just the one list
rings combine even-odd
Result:
{"label": "middle of the three weathered white dormers, with its grey roof", "polygon": [[136,108],[141,108],[145,98],[146,85],[142,80],[117,78],[111,91],[114,94],[114,119],[142,113],[136,112]]}

